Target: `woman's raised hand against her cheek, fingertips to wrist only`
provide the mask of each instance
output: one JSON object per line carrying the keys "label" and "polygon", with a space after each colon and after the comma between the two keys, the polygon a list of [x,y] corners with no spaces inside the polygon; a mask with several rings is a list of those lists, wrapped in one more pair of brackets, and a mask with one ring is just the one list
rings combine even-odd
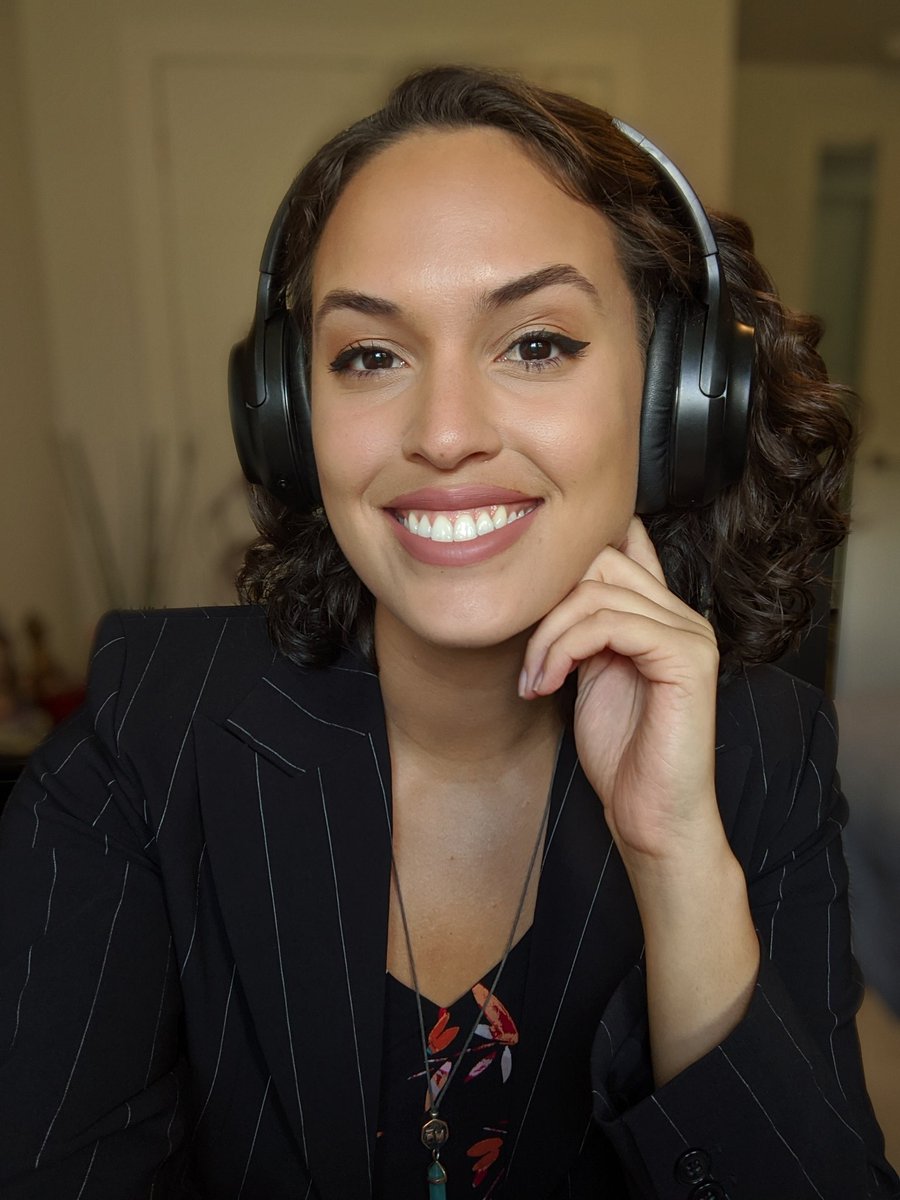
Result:
{"label": "woman's raised hand against her cheek, fingertips to wrist only", "polygon": [[578,756],[626,864],[721,847],[718,667],[709,622],[668,590],[637,517],[532,635],[522,695],[577,668]]}

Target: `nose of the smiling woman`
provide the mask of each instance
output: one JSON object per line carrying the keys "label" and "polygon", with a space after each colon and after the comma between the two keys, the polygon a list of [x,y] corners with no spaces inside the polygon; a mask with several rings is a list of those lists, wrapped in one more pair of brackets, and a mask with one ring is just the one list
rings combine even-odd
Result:
{"label": "nose of the smiling woman", "polygon": [[468,460],[490,460],[503,446],[487,380],[461,366],[433,366],[408,394],[409,419],[403,454],[438,470],[454,470]]}

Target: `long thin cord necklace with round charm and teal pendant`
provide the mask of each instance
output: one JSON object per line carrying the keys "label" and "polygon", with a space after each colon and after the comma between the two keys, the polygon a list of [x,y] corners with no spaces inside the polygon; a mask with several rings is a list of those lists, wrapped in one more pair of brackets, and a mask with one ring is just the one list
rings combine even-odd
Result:
{"label": "long thin cord necklace with round charm and teal pendant", "polygon": [[[559,745],[557,746],[557,763],[559,760],[560,746],[562,746],[562,738]],[[428,1170],[426,1175],[426,1180],[428,1183],[428,1200],[446,1200],[446,1169],[444,1164],[440,1162],[440,1152],[446,1145],[446,1141],[450,1136],[450,1127],[448,1126],[446,1121],[444,1121],[444,1118],[440,1116],[439,1109],[450,1085],[454,1081],[456,1072],[460,1069],[460,1064],[462,1063],[466,1051],[469,1049],[472,1039],[475,1037],[475,1031],[478,1030],[479,1025],[484,1019],[485,1009],[487,1008],[488,1003],[491,1002],[494,995],[497,984],[500,980],[500,974],[503,973],[503,968],[506,965],[506,959],[509,958],[510,950],[512,949],[512,940],[516,936],[516,929],[518,928],[518,922],[522,916],[522,910],[524,908],[526,896],[528,895],[528,886],[532,882],[532,875],[534,874],[534,865],[538,862],[538,852],[540,851],[541,842],[544,840],[544,832],[547,828],[547,820],[550,817],[550,802],[553,794],[553,779],[556,778],[556,766],[557,764],[554,763],[553,774],[551,775],[550,790],[547,792],[547,800],[546,804],[544,805],[544,816],[541,817],[541,822],[538,828],[538,836],[535,838],[534,848],[532,850],[532,857],[528,862],[528,871],[526,872],[524,883],[522,886],[522,894],[518,898],[516,914],[512,918],[512,928],[510,929],[509,937],[506,938],[506,947],[503,952],[503,956],[500,958],[497,971],[494,972],[491,988],[487,995],[485,996],[484,1002],[481,1003],[481,1008],[479,1009],[478,1016],[475,1018],[475,1022],[469,1030],[468,1037],[463,1043],[462,1050],[460,1051],[456,1062],[454,1063],[450,1074],[448,1075],[446,1081],[444,1082],[444,1086],[440,1088],[439,1092],[434,1092],[432,1088],[431,1068],[428,1062],[428,1039],[427,1034],[425,1033],[425,1015],[422,1013],[422,994],[419,990],[419,978],[415,972],[415,959],[413,956],[413,942],[409,936],[409,924],[407,922],[407,912],[403,905],[403,893],[400,889],[400,876],[397,875],[397,864],[394,860],[394,850],[391,848],[391,869],[394,871],[394,886],[397,889],[397,907],[400,908],[400,919],[403,925],[403,937],[407,944],[407,956],[409,959],[409,973],[413,977],[413,990],[415,991],[415,1006],[419,1013],[419,1034],[421,1037],[422,1060],[425,1062],[425,1079],[426,1079],[426,1086],[428,1088],[428,1097],[431,1099],[431,1104],[428,1106],[428,1114],[425,1117],[425,1121],[422,1121],[420,1132],[422,1146],[425,1146],[426,1150],[431,1151],[431,1163],[428,1164]]]}

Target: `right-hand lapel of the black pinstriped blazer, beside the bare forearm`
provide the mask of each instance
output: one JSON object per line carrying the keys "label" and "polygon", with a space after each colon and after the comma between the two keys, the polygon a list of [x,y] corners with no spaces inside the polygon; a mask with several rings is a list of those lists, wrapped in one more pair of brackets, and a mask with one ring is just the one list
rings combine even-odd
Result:
{"label": "right-hand lapel of the black pinstriped blazer, beside the bare forearm", "polygon": [[589,1056],[643,936],[602,805],[563,740],[532,934],[504,1194],[548,1195],[590,1121]]}

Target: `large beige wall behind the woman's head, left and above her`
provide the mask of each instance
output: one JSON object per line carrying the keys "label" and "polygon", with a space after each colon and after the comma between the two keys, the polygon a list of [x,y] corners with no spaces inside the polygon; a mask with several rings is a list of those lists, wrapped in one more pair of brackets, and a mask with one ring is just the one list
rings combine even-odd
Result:
{"label": "large beige wall behind the woman's head, left and above her", "polygon": [[[19,322],[17,341],[36,361],[28,374],[42,379],[48,420],[83,442],[121,575],[115,593],[104,589],[83,527],[55,516],[54,554],[64,528],[70,551],[62,580],[52,589],[40,572],[16,581],[17,602],[53,592],[73,662],[100,610],[148,600],[142,462],[151,443],[164,460],[168,569],[150,599],[230,598],[223,553],[250,528],[224,364],[251,316],[262,240],[301,158],[401,73],[439,60],[521,68],[616,109],[710,202],[728,196],[731,0],[572,0],[552,13],[538,0],[386,0],[377,20],[368,0],[7,0],[2,12],[18,34],[18,50],[6,52],[18,82],[5,71],[2,83],[14,103],[4,112],[24,109],[28,121],[7,121],[0,149],[22,160],[26,145],[30,161],[30,178],[23,172],[4,200],[6,226],[19,252],[34,252],[26,302],[43,306],[40,341],[36,319]],[[20,307],[6,272],[0,292],[4,311]],[[7,395],[5,440],[10,404]],[[197,445],[188,496],[174,466],[186,439]],[[5,463],[13,492],[46,473],[44,451],[20,445]],[[77,517],[71,498],[67,506]],[[36,554],[47,524],[32,505],[7,510],[4,559]]]}

